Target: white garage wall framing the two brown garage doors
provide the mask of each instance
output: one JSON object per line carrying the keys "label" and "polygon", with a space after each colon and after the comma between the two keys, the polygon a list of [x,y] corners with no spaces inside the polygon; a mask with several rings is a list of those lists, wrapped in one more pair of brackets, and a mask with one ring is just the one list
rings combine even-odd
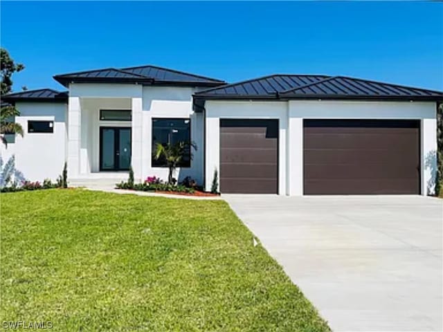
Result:
{"label": "white garage wall framing the two brown garage doors", "polygon": [[[437,165],[435,102],[363,101],[213,101],[206,108],[206,190],[219,169],[220,118],[275,118],[280,120],[279,194],[303,194],[304,119],[416,119],[421,120],[422,194],[433,194]],[[220,188],[223,192],[223,188]]]}

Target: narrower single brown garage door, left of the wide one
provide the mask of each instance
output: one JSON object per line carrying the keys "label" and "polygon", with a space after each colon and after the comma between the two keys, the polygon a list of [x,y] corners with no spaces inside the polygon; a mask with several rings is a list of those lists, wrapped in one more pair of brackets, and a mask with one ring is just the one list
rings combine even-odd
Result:
{"label": "narrower single brown garage door, left of the wide one", "polygon": [[220,191],[278,192],[278,120],[220,120]]}

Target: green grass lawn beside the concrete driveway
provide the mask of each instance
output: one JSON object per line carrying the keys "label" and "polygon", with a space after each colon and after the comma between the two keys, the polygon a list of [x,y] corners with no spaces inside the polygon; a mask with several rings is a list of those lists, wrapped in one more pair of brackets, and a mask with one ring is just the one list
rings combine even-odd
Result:
{"label": "green grass lawn beside the concrete driveway", "polygon": [[52,331],[329,331],[223,201],[1,194],[1,321]]}

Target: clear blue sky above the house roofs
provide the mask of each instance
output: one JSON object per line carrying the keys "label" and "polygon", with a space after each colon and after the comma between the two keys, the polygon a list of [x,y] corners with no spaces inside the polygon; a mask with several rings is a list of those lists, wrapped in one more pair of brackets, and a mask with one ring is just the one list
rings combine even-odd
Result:
{"label": "clear blue sky above the house roofs", "polygon": [[1,46],[52,76],[154,64],[228,82],[271,73],[348,75],[443,90],[443,3],[5,2]]}

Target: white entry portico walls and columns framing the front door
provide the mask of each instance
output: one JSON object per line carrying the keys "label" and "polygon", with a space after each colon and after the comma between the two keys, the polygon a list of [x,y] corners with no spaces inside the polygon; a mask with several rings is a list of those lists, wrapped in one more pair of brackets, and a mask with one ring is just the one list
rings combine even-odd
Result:
{"label": "white entry portico walls and columns framing the front door", "polygon": [[[141,99],[138,84],[70,84],[68,169],[71,178],[99,170],[99,127],[132,127],[132,167],[141,178]],[[100,109],[132,109],[132,122],[100,121]]]}

